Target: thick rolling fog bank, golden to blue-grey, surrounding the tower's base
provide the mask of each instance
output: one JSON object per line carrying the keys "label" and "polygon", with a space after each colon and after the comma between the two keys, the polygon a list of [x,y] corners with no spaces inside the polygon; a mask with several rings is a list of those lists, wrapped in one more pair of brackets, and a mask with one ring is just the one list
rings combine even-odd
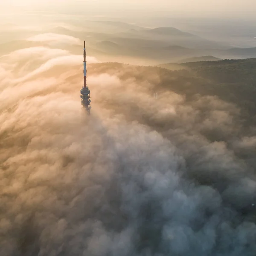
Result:
{"label": "thick rolling fog bank, golden to blue-grey, surrounding the tower's base", "polygon": [[97,64],[88,118],[80,57],[19,54],[1,64],[0,255],[255,253],[256,135],[235,105],[171,89],[156,101],[150,70]]}

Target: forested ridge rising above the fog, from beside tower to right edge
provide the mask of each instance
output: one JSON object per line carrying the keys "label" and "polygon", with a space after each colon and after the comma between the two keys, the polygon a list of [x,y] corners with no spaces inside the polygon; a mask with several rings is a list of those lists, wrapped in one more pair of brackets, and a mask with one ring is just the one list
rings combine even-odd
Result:
{"label": "forested ridge rising above the fog, from beside tower to right edge", "polygon": [[[200,61],[184,64],[180,70],[131,66],[119,63],[93,64],[93,72],[119,74],[120,79],[134,77],[137,81],[150,81],[153,91],[172,90],[186,95],[187,101],[196,95],[217,96],[241,108],[245,121],[256,123],[256,58],[241,60]],[[173,64],[169,64],[173,67]],[[122,73],[120,73],[122,70]],[[159,79],[154,80],[154,76]]]}

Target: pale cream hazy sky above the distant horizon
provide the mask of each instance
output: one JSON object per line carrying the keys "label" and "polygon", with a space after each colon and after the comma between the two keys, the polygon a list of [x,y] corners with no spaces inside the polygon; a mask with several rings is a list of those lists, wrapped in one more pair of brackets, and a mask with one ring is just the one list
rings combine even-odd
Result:
{"label": "pale cream hazy sky above the distant horizon", "polygon": [[[141,15],[164,15],[186,17],[239,17],[251,18],[255,16],[255,0],[0,0],[1,6],[12,8],[14,6],[26,6],[30,8],[52,8],[57,6],[64,9],[81,11],[82,6],[86,14],[108,15],[116,12],[116,15],[129,15],[127,11],[141,12]],[[67,8],[69,6],[69,8]],[[57,9],[58,9],[57,8]],[[8,8],[9,9],[9,8]],[[3,10],[3,8],[2,8]]]}

